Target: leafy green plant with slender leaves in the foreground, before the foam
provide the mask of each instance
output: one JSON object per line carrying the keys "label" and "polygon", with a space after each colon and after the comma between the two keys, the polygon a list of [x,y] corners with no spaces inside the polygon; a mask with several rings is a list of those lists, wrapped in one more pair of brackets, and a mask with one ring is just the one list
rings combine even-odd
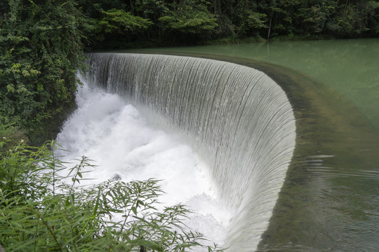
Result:
{"label": "leafy green plant with slender leaves in the foreground, before the foam", "polygon": [[91,160],[67,168],[53,153],[57,147],[1,149],[0,244],[6,251],[220,251],[185,229],[184,206],[157,210],[159,181],[80,186]]}

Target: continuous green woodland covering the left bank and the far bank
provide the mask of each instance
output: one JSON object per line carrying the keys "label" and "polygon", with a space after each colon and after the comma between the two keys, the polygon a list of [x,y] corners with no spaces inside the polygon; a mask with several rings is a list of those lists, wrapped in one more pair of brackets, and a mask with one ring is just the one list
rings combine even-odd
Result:
{"label": "continuous green woodland covering the left bank and the far bank", "polygon": [[84,50],[378,34],[374,0],[0,1],[0,132],[55,137]]}

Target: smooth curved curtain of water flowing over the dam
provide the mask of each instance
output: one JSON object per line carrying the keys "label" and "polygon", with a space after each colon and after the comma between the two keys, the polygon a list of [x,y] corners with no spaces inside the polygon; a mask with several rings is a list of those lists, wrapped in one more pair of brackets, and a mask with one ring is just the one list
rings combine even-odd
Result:
{"label": "smooth curved curtain of water flowing over the dam", "polygon": [[295,148],[286,93],[265,73],[213,59],[93,53],[88,81],[143,106],[185,136],[236,209],[225,244],[253,251],[267,230]]}

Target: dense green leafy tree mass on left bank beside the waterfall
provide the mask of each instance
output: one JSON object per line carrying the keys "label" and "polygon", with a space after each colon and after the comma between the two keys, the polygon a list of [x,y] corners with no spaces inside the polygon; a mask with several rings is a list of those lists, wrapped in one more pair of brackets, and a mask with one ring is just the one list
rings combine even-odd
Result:
{"label": "dense green leafy tree mass on left bank beside the waterfall", "polygon": [[0,123],[44,141],[73,106],[77,69],[84,69],[82,41],[93,27],[74,1],[1,4]]}

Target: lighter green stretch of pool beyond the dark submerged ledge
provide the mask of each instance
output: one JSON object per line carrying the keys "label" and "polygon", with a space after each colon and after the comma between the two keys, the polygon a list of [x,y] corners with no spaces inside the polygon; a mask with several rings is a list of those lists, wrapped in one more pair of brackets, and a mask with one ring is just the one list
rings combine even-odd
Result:
{"label": "lighter green stretch of pool beyond the dark submerged ledge", "polygon": [[379,38],[206,45],[163,50],[230,55],[288,66],[343,94],[379,130]]}

